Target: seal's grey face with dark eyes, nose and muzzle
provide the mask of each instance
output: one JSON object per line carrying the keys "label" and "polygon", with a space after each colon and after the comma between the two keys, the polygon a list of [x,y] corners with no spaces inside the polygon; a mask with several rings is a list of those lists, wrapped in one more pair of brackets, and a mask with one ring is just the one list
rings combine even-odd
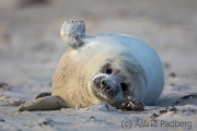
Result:
{"label": "seal's grey face with dark eyes, nose and muzzle", "polygon": [[113,64],[106,63],[101,67],[101,72],[93,78],[93,93],[104,102],[109,104],[124,99],[124,94],[128,94],[128,84],[119,76],[120,71]]}

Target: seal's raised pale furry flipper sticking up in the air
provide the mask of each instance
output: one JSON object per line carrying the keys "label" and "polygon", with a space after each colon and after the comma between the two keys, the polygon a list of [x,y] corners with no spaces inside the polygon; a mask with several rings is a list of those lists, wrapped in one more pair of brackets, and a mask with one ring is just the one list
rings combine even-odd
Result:
{"label": "seal's raised pale furry flipper sticking up in the air", "polygon": [[78,49],[84,44],[85,23],[83,21],[66,21],[61,26],[60,35],[72,49]]}

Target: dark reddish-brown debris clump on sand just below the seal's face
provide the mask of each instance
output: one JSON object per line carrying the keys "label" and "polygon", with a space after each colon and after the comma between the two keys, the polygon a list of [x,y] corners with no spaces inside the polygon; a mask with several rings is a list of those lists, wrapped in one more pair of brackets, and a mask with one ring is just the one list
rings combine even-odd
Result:
{"label": "dark reddish-brown debris clump on sand just below the seal's face", "polygon": [[134,111],[143,111],[144,105],[143,103],[136,102],[131,99],[131,96],[128,96],[126,102],[121,104],[119,107],[121,110],[134,110]]}

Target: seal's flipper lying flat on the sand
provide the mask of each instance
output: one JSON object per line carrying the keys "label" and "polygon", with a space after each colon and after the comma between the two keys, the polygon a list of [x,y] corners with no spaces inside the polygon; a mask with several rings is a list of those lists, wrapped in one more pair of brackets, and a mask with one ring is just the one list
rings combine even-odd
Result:
{"label": "seal's flipper lying flat on the sand", "polygon": [[18,111],[24,110],[55,110],[68,107],[66,102],[59,96],[46,96],[22,104]]}

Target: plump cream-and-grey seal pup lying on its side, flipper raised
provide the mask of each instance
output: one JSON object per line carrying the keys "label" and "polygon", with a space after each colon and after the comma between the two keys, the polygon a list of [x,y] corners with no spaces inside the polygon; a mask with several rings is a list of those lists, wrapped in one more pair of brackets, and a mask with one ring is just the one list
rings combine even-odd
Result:
{"label": "plump cream-and-grey seal pup lying on its side, flipper raised", "polygon": [[163,91],[163,68],[157,52],[141,39],[124,34],[85,35],[83,21],[66,21],[60,35],[70,48],[53,78],[51,94],[43,93],[19,107],[53,110],[97,105],[119,107],[128,96],[154,105]]}

